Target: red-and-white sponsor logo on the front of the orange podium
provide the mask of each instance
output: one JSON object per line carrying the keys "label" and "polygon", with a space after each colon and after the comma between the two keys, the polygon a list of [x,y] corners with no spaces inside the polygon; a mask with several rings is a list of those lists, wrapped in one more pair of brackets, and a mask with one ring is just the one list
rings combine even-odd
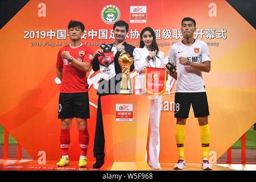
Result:
{"label": "red-and-white sponsor logo on the front of the orange podium", "polygon": [[115,104],[115,121],[133,121],[133,105]]}

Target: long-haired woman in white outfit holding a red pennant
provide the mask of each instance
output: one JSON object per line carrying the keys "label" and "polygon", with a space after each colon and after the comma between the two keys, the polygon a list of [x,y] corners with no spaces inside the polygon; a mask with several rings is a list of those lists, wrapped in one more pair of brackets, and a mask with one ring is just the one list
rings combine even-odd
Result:
{"label": "long-haired woman in white outfit holding a red pennant", "polygon": [[[133,56],[135,70],[139,73],[135,82],[135,94],[146,95],[144,89],[145,69],[147,67],[164,68],[164,53],[159,51],[155,32],[152,28],[146,27],[141,31],[141,42],[139,48],[134,49]],[[159,163],[159,122],[162,96],[151,96],[148,98],[151,100],[148,164],[152,169],[162,169]]]}

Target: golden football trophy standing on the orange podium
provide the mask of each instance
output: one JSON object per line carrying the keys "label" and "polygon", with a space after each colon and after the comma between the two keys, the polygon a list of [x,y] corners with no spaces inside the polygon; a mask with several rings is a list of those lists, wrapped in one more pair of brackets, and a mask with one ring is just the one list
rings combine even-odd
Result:
{"label": "golden football trophy standing on the orange podium", "polygon": [[124,52],[118,57],[118,63],[122,69],[120,94],[131,94],[129,73],[131,64],[133,64],[133,57],[129,53]]}

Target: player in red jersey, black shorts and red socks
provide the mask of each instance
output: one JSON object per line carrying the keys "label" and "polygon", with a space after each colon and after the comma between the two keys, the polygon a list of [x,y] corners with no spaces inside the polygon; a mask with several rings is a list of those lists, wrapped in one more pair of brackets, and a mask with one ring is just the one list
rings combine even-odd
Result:
{"label": "player in red jersey, black shorts and red socks", "polygon": [[90,118],[88,83],[93,52],[81,43],[84,24],[71,20],[68,24],[70,44],[60,49],[57,55],[57,77],[61,80],[58,118],[61,119],[60,148],[61,159],[58,167],[68,166],[69,130],[72,118],[76,118],[79,129],[80,160],[79,167],[86,167],[86,153],[89,143],[87,118]]}

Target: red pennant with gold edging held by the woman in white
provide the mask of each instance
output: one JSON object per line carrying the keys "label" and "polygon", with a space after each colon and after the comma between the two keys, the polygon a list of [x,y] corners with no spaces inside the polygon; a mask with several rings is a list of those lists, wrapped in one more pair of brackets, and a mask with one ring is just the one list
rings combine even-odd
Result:
{"label": "red pennant with gold edging held by the woman in white", "polygon": [[163,68],[146,68],[145,89],[151,96],[161,96],[166,90],[166,71]]}

